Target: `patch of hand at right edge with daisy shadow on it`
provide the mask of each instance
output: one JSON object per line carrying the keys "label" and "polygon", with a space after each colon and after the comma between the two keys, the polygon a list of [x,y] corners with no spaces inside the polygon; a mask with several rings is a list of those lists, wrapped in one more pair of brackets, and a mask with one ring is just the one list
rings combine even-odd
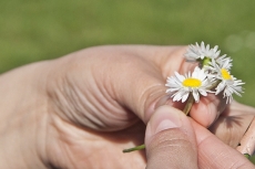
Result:
{"label": "patch of hand at right edge with daisy shadow on it", "polygon": [[255,128],[251,128],[254,127],[252,125],[254,116],[254,107],[234,101],[210,127],[210,130],[225,144],[237,148],[242,154],[253,155],[255,145],[254,141],[248,142],[248,139],[254,137],[254,133],[248,133],[247,130],[255,130]]}

